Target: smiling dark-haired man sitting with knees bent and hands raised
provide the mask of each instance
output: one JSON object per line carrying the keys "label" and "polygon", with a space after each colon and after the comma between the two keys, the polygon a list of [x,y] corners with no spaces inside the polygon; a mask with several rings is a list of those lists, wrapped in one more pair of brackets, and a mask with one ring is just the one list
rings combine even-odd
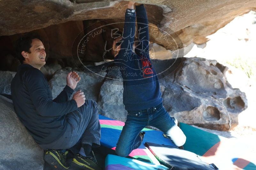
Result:
{"label": "smiling dark-haired man sitting with knees bent and hands raised", "polygon": [[71,162],[74,169],[100,169],[91,150],[100,145],[97,103],[85,100],[81,90],[69,100],[81,77],[75,71],[68,73],[67,85],[52,99],[50,86],[40,71],[46,57],[42,39],[27,34],[17,40],[16,52],[22,64],[11,84],[14,109],[36,143],[47,150],[45,161],[57,169],[68,169],[68,149],[75,154]]}

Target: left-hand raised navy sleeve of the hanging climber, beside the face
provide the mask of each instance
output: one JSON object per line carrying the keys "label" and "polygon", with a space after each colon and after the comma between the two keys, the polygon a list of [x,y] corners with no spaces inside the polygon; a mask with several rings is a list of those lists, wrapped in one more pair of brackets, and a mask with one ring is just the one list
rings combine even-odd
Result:
{"label": "left-hand raised navy sleeve of the hanging climber, beside the face", "polygon": [[129,61],[132,60],[131,56],[133,53],[132,47],[135,37],[135,20],[135,10],[126,9],[121,49],[118,55],[115,57],[115,62],[121,62],[125,64],[129,63]]}

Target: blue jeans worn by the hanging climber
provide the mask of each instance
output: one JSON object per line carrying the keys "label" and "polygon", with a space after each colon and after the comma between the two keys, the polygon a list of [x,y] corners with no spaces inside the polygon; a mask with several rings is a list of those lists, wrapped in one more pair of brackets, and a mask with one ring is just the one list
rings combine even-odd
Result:
{"label": "blue jeans worn by the hanging climber", "polygon": [[158,128],[176,146],[182,146],[186,141],[186,136],[175,124],[174,118],[170,117],[163,103],[160,103],[146,110],[128,111],[127,120],[116,144],[116,154],[125,157],[137,149],[142,143],[141,137],[138,135],[146,126]]}

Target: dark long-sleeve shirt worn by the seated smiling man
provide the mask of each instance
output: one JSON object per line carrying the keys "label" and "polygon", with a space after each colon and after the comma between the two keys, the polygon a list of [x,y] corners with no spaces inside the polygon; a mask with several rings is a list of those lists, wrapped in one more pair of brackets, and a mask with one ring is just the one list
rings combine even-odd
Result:
{"label": "dark long-sleeve shirt worn by the seated smiling man", "polygon": [[38,144],[49,144],[66,130],[66,114],[77,110],[74,92],[66,86],[52,100],[50,85],[43,73],[28,64],[21,64],[11,83],[14,110],[22,124]]}

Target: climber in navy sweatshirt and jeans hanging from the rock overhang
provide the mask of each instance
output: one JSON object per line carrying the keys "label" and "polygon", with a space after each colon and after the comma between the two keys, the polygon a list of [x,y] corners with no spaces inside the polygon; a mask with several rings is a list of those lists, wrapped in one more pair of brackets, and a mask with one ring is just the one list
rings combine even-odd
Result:
{"label": "climber in navy sweatshirt and jeans hanging from the rock overhang", "polygon": [[[149,57],[146,10],[143,4],[136,4],[134,10],[134,4],[131,1],[128,3],[123,35],[115,39],[112,46],[114,62],[126,68],[120,70],[124,86],[123,103],[128,115],[116,145],[116,153],[123,157],[141,145],[144,137],[141,130],[145,126],[153,126],[163,131],[177,146],[182,146],[186,141],[186,136],[177,126],[177,120],[170,117],[163,107],[159,79]],[[138,44],[135,47],[136,17]]]}

